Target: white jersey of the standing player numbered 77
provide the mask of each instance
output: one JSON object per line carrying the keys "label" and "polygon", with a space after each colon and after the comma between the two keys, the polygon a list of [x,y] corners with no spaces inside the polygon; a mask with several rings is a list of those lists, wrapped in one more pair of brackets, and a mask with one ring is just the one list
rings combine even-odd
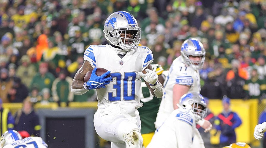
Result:
{"label": "white jersey of the standing player numbered 77", "polygon": [[174,110],[173,107],[173,87],[175,84],[190,86],[189,92],[200,93],[200,73],[191,67],[186,67],[182,56],[177,57],[170,69],[168,76],[164,81],[164,94],[159,111],[156,118],[156,128],[158,128],[164,120]]}

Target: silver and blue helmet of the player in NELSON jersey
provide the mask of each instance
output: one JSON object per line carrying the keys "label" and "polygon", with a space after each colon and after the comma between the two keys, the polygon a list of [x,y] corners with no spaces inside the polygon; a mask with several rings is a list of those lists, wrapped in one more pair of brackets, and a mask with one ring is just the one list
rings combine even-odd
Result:
{"label": "silver and blue helmet of the player in NELSON jersey", "polygon": [[3,133],[3,135],[0,138],[1,146],[5,146],[7,144],[10,144],[16,140],[21,140],[21,135],[15,131],[15,130],[8,130]]}

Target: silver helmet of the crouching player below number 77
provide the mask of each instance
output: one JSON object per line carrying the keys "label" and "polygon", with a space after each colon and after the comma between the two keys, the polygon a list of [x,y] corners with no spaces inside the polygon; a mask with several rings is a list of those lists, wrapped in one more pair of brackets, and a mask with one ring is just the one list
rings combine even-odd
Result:
{"label": "silver helmet of the crouching player below number 77", "polygon": [[[179,105],[181,107],[190,108],[191,110],[193,110],[196,120],[201,120],[202,118],[204,118],[208,110],[204,97],[201,94],[195,92],[181,96]],[[199,105],[201,105],[202,108],[199,108]]]}

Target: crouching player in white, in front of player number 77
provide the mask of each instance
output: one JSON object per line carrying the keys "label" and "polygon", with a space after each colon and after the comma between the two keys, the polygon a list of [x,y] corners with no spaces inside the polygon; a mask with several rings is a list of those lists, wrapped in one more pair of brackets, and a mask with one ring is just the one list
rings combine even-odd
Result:
{"label": "crouching player in white, in front of player number 77", "polygon": [[202,95],[192,92],[181,97],[180,107],[156,129],[147,148],[205,148],[196,122],[205,117],[207,104]]}

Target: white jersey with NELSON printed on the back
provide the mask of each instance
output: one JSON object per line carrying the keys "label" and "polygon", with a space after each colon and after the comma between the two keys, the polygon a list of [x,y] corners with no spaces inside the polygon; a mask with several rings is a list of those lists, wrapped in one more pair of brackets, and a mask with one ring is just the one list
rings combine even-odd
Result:
{"label": "white jersey with NELSON printed on the back", "polygon": [[26,137],[22,140],[16,140],[11,144],[5,145],[3,148],[47,148],[48,145],[41,137]]}

